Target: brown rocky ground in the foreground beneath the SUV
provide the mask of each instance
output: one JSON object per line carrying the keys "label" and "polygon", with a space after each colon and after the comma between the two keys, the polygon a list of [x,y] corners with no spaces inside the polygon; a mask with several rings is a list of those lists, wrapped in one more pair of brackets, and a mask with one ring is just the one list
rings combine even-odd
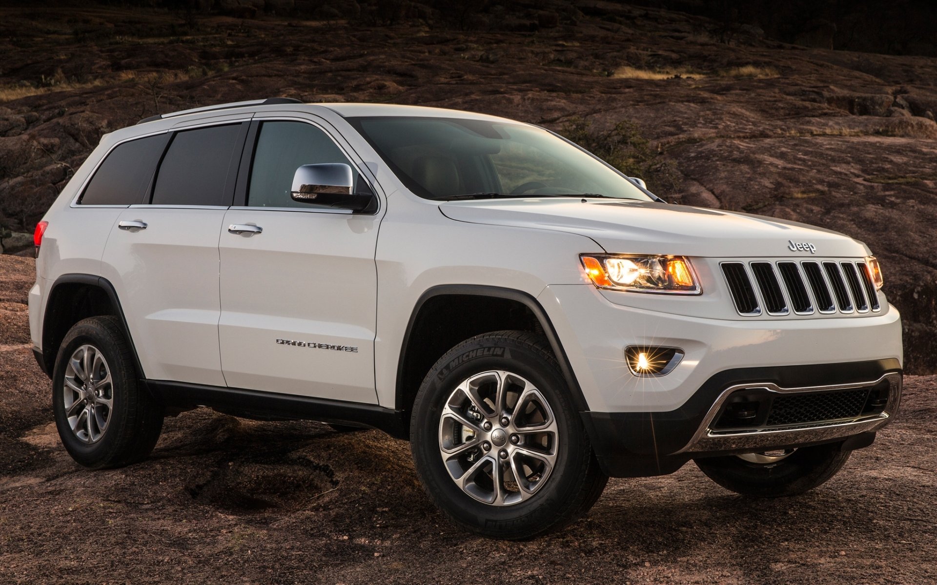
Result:
{"label": "brown rocky ground in the foreground beneath the SUV", "polygon": [[0,256],[0,583],[934,583],[937,376],[807,495],[752,500],[692,464],[613,479],[531,542],[448,524],[379,431],[169,418],[153,456],[88,471],[30,353],[30,258]]}

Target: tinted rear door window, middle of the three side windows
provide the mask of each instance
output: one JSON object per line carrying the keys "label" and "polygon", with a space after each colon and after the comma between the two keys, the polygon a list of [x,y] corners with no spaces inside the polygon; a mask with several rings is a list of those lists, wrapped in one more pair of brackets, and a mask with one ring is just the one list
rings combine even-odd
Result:
{"label": "tinted rear door window, middle of the three side windows", "polygon": [[[231,205],[225,193],[241,124],[176,132],[156,173],[154,205]],[[240,148],[236,149],[240,153]]]}

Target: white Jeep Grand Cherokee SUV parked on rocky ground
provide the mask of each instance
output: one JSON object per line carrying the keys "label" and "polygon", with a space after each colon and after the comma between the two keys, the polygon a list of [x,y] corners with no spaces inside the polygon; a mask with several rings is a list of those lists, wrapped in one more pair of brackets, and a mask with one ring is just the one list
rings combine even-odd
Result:
{"label": "white Jeep Grand Cherokee SUV parked on rocky ground", "polygon": [[583,514],[690,460],[785,496],[871,444],[900,316],[843,235],[669,205],[541,127],[287,98],[106,135],[37,227],[62,442],[140,461],[209,406],[409,439],[479,534]]}

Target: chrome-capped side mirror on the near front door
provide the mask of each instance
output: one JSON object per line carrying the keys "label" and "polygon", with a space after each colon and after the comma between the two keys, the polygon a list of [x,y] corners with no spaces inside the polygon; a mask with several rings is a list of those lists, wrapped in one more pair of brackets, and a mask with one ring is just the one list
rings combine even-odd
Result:
{"label": "chrome-capped side mirror on the near front door", "polygon": [[345,163],[303,165],[293,174],[290,197],[300,203],[313,203],[326,207],[367,211],[376,203],[370,188],[355,192],[354,176]]}

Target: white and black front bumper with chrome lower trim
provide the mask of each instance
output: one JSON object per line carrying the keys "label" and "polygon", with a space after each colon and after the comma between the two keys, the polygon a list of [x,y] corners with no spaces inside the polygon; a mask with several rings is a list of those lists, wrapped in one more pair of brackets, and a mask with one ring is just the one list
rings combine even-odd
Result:
{"label": "white and black front bumper with chrome lower trim", "polygon": [[[609,475],[662,475],[695,458],[792,446],[866,446],[899,406],[901,324],[890,305],[861,317],[727,320],[613,303],[590,285],[548,286],[539,300],[582,388],[582,417]],[[625,363],[629,345],[677,347],[685,356],[666,375],[639,377]],[[887,386],[887,403],[870,416],[714,428],[736,391],[775,396],[877,384]]]}

